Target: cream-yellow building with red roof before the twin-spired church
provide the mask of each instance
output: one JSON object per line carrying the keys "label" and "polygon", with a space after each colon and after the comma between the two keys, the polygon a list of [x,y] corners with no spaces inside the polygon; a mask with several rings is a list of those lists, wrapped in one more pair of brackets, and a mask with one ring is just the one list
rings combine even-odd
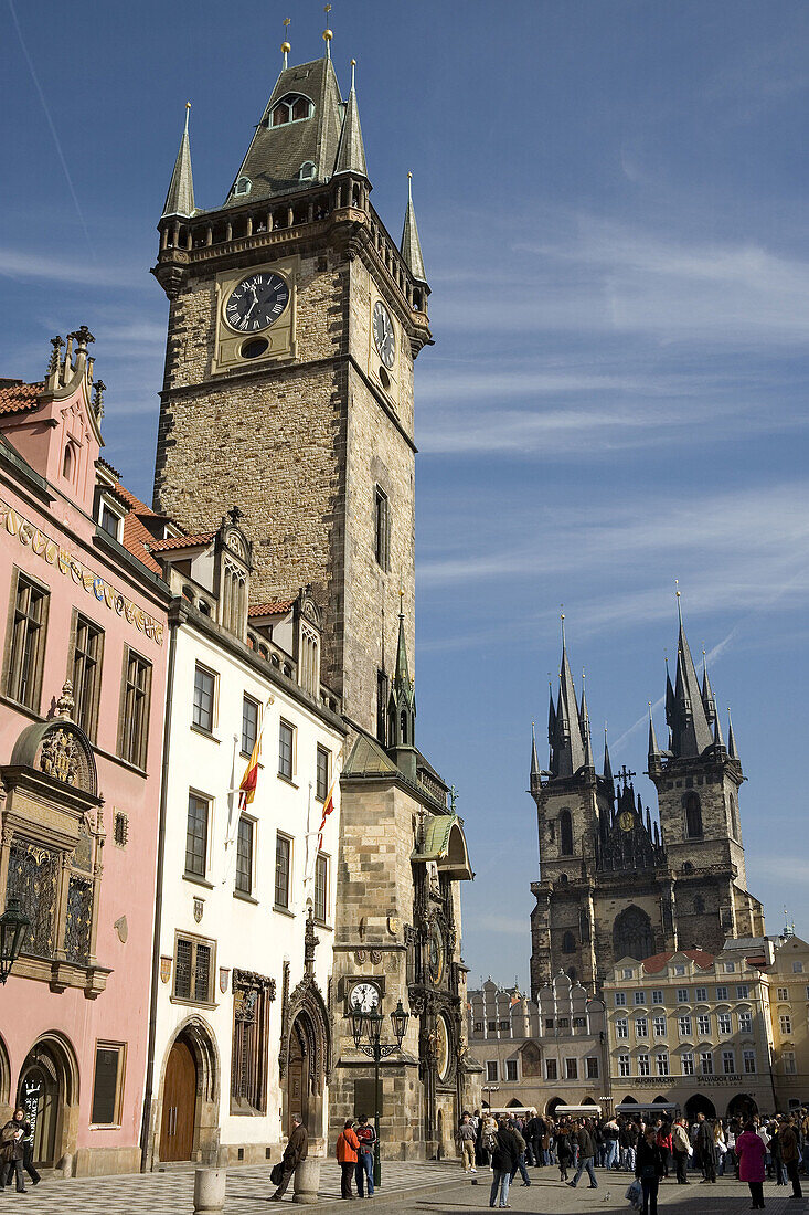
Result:
{"label": "cream-yellow building with red roof before the twin-spired church", "polygon": [[666,1102],[691,1118],[771,1113],[771,959],[770,942],[749,938],[726,942],[715,956],[688,949],[612,967],[604,999],[613,1108]]}

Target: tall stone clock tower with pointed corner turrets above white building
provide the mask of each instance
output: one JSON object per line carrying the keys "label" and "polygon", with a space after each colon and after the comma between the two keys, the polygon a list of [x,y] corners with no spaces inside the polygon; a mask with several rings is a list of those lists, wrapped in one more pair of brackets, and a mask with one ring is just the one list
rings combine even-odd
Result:
{"label": "tall stone clock tower with pointed corner turrets above white building", "polygon": [[414,644],[413,363],[432,339],[412,198],[397,245],[330,36],[311,63],[284,51],[219,208],[196,205],[186,122],[153,271],[169,298],[154,501],[189,532],[242,504],[254,589],[311,586],[324,682],[379,736],[400,587]]}

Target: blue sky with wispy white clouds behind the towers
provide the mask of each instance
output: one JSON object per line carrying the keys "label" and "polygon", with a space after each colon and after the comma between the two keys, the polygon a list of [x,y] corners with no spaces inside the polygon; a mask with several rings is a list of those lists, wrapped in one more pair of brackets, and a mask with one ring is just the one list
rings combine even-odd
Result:
{"label": "blue sky with wispy white clouds behind the towers", "polygon": [[[166,303],[148,273],[187,100],[197,202],[221,202],[318,4],[0,6],[0,375],[35,379],[86,322],[107,456],[147,499]],[[132,18],[136,19],[132,19]],[[809,932],[803,2],[343,0],[373,202],[408,169],[436,345],[417,368],[418,734],[459,789],[477,878],[474,982],[527,981],[565,604],[613,764],[645,768],[675,652],[732,706],[752,889]],[[581,680],[579,680],[581,683]],[[656,710],[664,738],[662,710]],[[654,790],[637,779],[645,801]],[[654,804],[654,801],[652,801]]]}

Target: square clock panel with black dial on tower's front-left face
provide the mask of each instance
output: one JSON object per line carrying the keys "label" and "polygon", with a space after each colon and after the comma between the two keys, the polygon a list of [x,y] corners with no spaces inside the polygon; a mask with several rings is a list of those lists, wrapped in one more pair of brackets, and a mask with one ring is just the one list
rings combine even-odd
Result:
{"label": "square clock panel with black dial on tower's front-left face", "polygon": [[213,374],[295,357],[298,261],[287,258],[250,273],[242,269],[216,276]]}

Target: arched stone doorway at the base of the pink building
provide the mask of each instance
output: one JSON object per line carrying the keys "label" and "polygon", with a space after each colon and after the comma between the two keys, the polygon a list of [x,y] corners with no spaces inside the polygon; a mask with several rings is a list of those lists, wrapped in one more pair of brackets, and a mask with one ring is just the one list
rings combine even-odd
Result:
{"label": "arched stone doorway at the base of the pink building", "polygon": [[38,1168],[64,1165],[75,1148],[79,1112],[79,1068],[69,1044],[47,1034],[26,1056],[17,1081],[17,1106],[33,1132]]}

